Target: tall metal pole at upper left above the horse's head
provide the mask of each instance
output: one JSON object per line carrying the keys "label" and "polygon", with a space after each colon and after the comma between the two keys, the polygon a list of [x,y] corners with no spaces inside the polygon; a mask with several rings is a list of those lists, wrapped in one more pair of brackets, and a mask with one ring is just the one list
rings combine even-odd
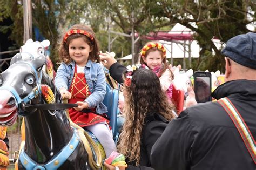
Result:
{"label": "tall metal pole at upper left above the horse's head", "polygon": [[23,0],[23,24],[24,24],[24,35],[23,43],[26,40],[32,38],[32,10],[31,0]]}

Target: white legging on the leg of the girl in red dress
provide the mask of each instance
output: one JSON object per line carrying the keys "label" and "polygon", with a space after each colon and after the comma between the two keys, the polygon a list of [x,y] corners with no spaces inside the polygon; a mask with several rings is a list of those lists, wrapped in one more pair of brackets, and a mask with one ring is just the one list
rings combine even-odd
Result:
{"label": "white legging on the leg of the girl in red dress", "polygon": [[109,130],[109,126],[104,123],[98,123],[91,126],[85,127],[87,130],[91,131],[95,137],[99,140],[100,144],[102,144],[105,153],[106,158],[109,157],[109,155],[113,151],[117,151],[116,144],[113,140],[113,134],[112,131]]}

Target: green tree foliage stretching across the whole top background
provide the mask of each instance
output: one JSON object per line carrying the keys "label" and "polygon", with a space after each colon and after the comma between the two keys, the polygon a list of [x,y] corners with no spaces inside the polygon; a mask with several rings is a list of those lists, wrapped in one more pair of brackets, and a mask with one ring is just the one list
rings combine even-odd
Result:
{"label": "green tree foliage stretching across the whole top background", "polygon": [[[0,22],[11,18],[14,24],[0,26],[0,31],[11,30],[10,38],[18,46],[23,40],[22,1],[0,0]],[[132,28],[139,35],[152,31],[169,31],[180,23],[196,32],[194,38],[201,47],[200,57],[192,60],[195,69],[224,70],[223,56],[212,42],[218,38],[226,42],[231,37],[248,32],[246,25],[255,22],[256,2],[252,0],[33,0],[33,26],[51,42],[51,59],[57,62],[57,49],[60,36],[71,25],[84,23],[96,32],[103,52],[108,50],[109,30],[130,35]],[[248,19],[249,17],[249,19]],[[110,34],[111,40],[116,37]],[[135,45],[135,53],[146,41],[140,39]],[[215,54],[212,54],[212,50]],[[131,38],[118,36],[111,45],[117,58],[131,53]],[[182,62],[181,62],[182,63]],[[181,64],[180,63],[180,64]]]}

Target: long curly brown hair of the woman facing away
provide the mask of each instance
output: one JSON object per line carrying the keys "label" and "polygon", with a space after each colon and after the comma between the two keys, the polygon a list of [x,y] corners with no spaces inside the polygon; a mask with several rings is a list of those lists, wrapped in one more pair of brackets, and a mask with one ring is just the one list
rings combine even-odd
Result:
{"label": "long curly brown hair of the woman facing away", "polygon": [[[126,72],[123,74],[126,78]],[[126,87],[124,115],[126,117],[123,130],[118,141],[118,151],[124,154],[130,162],[140,161],[140,143],[144,119],[148,113],[157,113],[167,120],[174,118],[174,105],[167,100],[161,90],[159,78],[148,69],[134,71],[131,85]]]}

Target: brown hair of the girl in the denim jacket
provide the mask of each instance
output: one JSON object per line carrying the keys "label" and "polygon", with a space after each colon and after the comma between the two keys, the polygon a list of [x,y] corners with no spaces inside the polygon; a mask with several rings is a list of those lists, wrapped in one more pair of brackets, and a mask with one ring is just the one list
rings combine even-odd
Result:
{"label": "brown hair of the girl in the denim jacket", "polygon": [[74,29],[84,30],[84,31],[90,33],[90,35],[92,35],[92,37],[93,37],[93,41],[85,35],[82,35],[80,33],[75,33],[75,34],[70,35],[68,37],[68,39],[66,39],[66,41],[64,42],[63,38],[66,34],[66,32],[65,32],[62,36],[62,42],[60,43],[60,46],[59,46],[60,61],[64,62],[65,64],[69,64],[70,62],[72,62],[72,59],[69,56],[69,44],[72,39],[81,37],[92,49],[92,51],[89,53],[88,59],[92,60],[93,62],[99,63],[99,44],[98,44],[98,40],[95,36],[95,32],[93,32],[93,30],[90,28],[90,26],[83,25],[83,24],[73,25],[73,26],[71,26],[71,28],[68,31],[74,30]]}

